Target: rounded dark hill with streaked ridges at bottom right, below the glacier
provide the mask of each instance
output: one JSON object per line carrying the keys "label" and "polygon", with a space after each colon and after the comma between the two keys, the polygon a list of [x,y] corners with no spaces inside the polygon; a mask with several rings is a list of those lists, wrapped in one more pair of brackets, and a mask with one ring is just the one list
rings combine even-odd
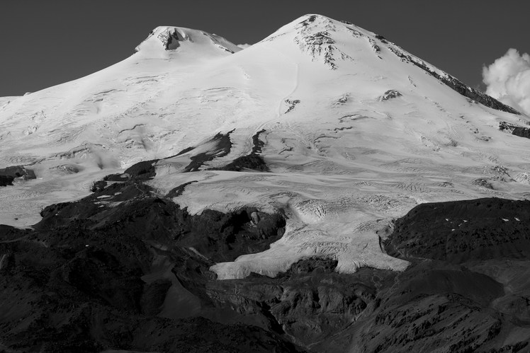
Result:
{"label": "rounded dark hill with streaked ridges at bottom right, below the glacier", "polygon": [[354,324],[356,331],[346,331],[352,335],[351,351],[470,352],[502,347],[500,332],[512,324],[487,308],[502,295],[502,285],[495,280],[424,262],[393,282]]}

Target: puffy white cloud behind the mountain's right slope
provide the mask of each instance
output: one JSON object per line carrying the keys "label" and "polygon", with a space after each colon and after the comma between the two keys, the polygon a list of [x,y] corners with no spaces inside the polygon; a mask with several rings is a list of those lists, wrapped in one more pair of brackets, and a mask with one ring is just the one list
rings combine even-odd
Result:
{"label": "puffy white cloud behind the mountain's right slope", "polygon": [[510,49],[483,67],[486,93],[530,116],[530,55]]}

